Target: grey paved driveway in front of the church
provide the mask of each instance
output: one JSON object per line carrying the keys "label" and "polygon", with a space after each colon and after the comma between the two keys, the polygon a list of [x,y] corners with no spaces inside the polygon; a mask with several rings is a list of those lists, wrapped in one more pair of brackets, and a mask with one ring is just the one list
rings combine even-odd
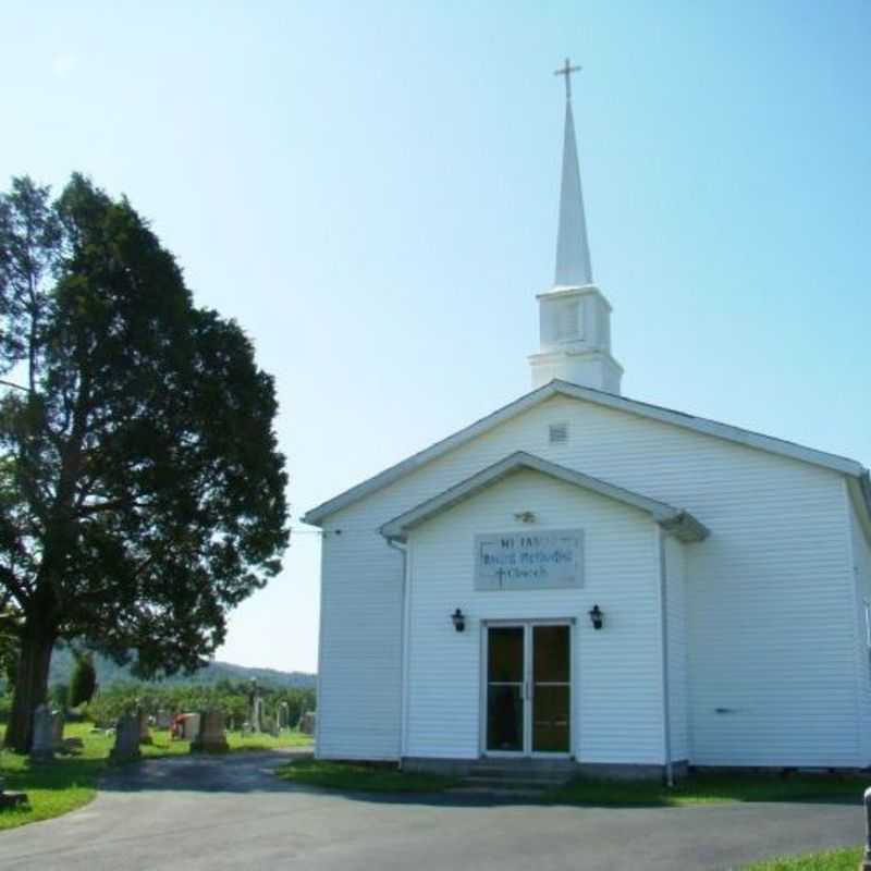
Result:
{"label": "grey paved driveway in front of the church", "polygon": [[727,869],[862,839],[844,805],[604,809],[306,790],[278,753],[144,762],[82,810],[0,834],[0,868]]}

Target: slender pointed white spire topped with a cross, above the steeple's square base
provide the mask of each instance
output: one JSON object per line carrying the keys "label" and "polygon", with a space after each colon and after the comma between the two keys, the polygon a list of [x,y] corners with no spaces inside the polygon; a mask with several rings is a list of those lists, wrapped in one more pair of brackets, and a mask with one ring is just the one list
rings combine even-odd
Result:
{"label": "slender pointed white spire topped with a cross, above the steeple's square base", "polygon": [[572,74],[580,70],[568,58],[554,75],[565,77],[565,136],[563,140],[563,180],[560,186],[560,229],[556,234],[556,270],[554,285],[577,287],[592,284],[590,246],[584,217],[580,189],[575,119],[572,114]]}

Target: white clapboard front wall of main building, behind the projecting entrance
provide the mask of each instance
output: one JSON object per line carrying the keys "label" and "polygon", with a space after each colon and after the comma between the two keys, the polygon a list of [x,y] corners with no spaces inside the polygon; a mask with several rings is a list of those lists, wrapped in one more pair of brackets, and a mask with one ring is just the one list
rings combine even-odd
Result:
{"label": "white clapboard front wall of main building, behind the projecting entrance", "polygon": [[[568,424],[565,443],[550,443],[554,422]],[[858,735],[855,584],[843,478],[565,396],[327,518],[322,756],[400,755],[402,559],[378,528],[519,450],[684,507],[711,530],[709,539],[685,549],[692,761],[868,761]],[[330,535],[335,529],[342,535]],[[610,608],[609,601],[600,605]],[[657,661],[649,667],[655,671]],[[614,729],[628,719],[615,707]]]}

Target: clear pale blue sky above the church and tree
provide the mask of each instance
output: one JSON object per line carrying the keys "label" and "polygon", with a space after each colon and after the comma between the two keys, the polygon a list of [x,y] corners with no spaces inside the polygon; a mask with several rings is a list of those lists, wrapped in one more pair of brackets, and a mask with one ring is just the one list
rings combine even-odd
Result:
{"label": "clear pale blue sky above the church and tree", "polygon": [[[126,194],[254,338],[296,517],[528,390],[568,54],[625,395],[868,465],[869,45],[868,0],[5,4],[0,170]],[[222,658],[314,670],[318,549]]]}

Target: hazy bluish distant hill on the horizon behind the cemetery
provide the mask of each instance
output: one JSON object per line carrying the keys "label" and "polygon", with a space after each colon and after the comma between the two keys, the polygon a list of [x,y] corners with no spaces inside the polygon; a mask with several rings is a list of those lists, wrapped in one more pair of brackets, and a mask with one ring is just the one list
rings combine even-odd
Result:
{"label": "hazy bluish distant hill on the horizon behind the cemetery", "polygon": [[[68,647],[57,647],[51,655],[51,671],[49,672],[49,685],[69,684],[73,676],[75,661],[73,652]],[[113,684],[123,684],[137,680],[131,675],[130,670],[116,665],[105,657],[96,655],[94,666],[97,670],[97,683],[103,688]],[[176,674],[160,680],[163,685],[173,684],[214,684],[218,680],[250,680],[257,678],[261,686],[270,686],[275,689],[314,689],[316,676],[307,672],[280,672],[277,668],[249,668],[245,665],[234,665],[230,662],[211,662],[205,668],[200,668],[191,675]]]}

